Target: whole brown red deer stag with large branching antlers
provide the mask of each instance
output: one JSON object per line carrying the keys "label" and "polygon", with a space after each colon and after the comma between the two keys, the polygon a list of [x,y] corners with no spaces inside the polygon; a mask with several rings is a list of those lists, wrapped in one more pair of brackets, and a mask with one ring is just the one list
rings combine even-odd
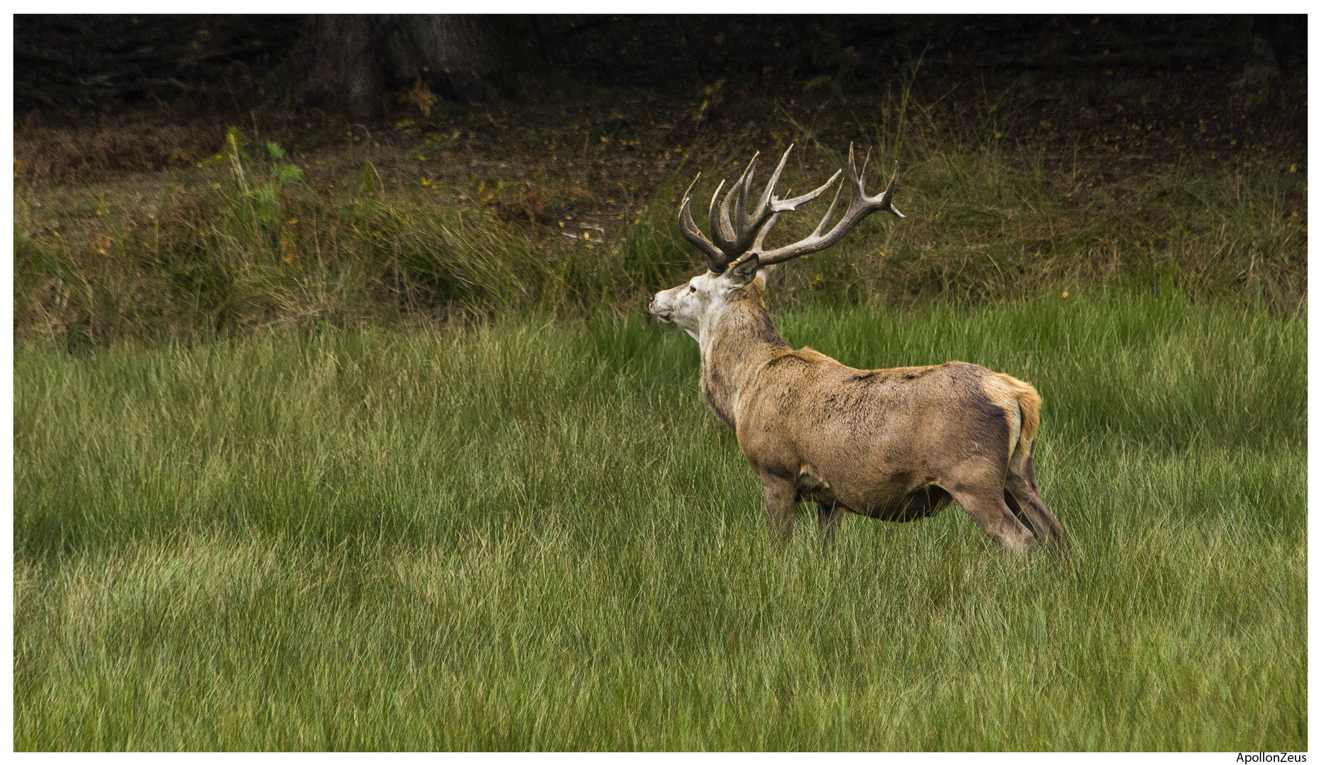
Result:
{"label": "whole brown red deer stag with large branching antlers", "polygon": [[[790,147],[793,149],[793,147]],[[828,231],[841,182],[826,217],[806,239],[766,250],[766,233],[781,213],[819,197],[839,177],[791,200],[771,190],[789,152],[748,213],[757,157],[720,203],[711,198],[708,239],[692,221],[692,181],[679,207],[683,235],[711,270],[658,292],[649,309],[682,326],[701,347],[701,392],[732,427],[761,478],[773,536],[793,535],[794,506],[816,503],[823,540],[844,510],[885,521],[914,521],[951,498],[988,536],[1011,550],[1033,540],[1063,543],[1063,527],[1037,495],[1032,468],[1041,398],[1007,374],[951,361],[939,366],[857,370],[810,347],[785,344],[762,299],[765,268],[839,242],[867,215],[894,209],[894,178],[878,197],[863,189],[848,149],[848,206]],[[699,174],[697,178],[701,176]],[[731,221],[729,205],[736,203]]]}

